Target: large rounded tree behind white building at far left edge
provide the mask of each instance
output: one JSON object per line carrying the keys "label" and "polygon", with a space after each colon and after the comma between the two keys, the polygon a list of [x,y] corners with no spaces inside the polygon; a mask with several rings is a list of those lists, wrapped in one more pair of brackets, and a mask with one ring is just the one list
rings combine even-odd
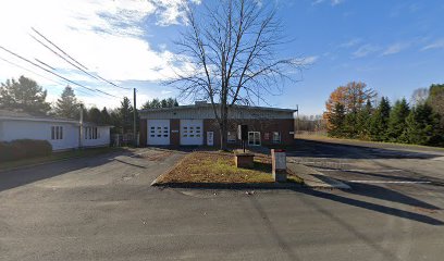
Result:
{"label": "large rounded tree behind white building at far left edge", "polygon": [[46,115],[51,105],[46,101],[47,91],[30,78],[8,79],[0,86],[0,108],[21,110],[29,114]]}

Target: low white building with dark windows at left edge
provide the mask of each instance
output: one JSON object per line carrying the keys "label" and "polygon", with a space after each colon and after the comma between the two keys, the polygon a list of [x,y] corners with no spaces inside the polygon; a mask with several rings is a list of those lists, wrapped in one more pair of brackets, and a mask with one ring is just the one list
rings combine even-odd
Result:
{"label": "low white building with dark windows at left edge", "polygon": [[94,123],[82,125],[83,132],[78,121],[0,110],[0,141],[48,140],[54,151],[110,145],[112,126]]}

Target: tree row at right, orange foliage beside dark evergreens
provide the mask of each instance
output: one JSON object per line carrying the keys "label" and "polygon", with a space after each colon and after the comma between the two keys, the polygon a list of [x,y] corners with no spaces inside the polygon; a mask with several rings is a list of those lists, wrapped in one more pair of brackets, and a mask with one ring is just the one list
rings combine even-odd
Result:
{"label": "tree row at right, orange foliage beside dark evergreens", "polygon": [[331,137],[444,146],[444,85],[415,90],[410,103],[405,98],[391,103],[353,82],[336,88],[325,108]]}

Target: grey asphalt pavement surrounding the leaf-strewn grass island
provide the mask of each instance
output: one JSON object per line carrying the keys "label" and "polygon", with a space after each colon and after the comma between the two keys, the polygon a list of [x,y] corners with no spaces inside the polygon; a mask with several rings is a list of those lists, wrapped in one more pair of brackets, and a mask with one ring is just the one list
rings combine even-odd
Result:
{"label": "grey asphalt pavement surrounding the leaf-strewn grass island", "polygon": [[[441,260],[444,254],[439,154],[298,141],[293,160],[328,170],[355,189],[246,195],[150,187],[182,154],[136,153],[0,173],[0,259]],[[380,178],[432,183],[350,182]]]}

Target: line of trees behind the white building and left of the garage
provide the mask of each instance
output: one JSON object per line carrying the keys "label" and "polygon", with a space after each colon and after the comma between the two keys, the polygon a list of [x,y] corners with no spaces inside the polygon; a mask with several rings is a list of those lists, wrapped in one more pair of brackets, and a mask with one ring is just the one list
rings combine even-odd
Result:
{"label": "line of trees behind the white building and left of the garage", "polygon": [[[112,125],[113,133],[127,134],[133,132],[134,108],[127,97],[123,97],[120,107],[101,110],[96,107],[81,107],[82,101],[77,99],[74,89],[66,86],[60,98],[51,105],[46,101],[47,91],[35,80],[21,76],[18,79],[8,79],[0,85],[0,109],[11,111],[23,111],[30,115],[79,120],[83,110],[84,122]],[[143,104],[143,109],[177,107],[176,99],[152,99]],[[83,108],[83,109],[81,109]],[[136,112],[137,113],[137,112]],[[138,124],[138,115],[136,124]],[[138,129],[138,126],[136,126]]]}

